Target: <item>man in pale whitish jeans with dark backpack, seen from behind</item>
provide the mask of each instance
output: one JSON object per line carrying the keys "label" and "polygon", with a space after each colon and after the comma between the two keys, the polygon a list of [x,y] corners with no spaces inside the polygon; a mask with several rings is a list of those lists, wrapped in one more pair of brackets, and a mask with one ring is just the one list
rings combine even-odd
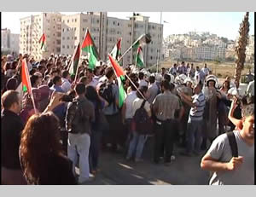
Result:
{"label": "man in pale whitish jeans with dark backpack, seen from behind", "polygon": [[90,180],[90,134],[91,124],[95,121],[95,109],[93,104],[84,96],[84,84],[77,84],[75,92],[77,97],[67,106],[67,157],[73,161],[73,173],[75,175],[75,166],[79,155],[79,183],[84,183]]}

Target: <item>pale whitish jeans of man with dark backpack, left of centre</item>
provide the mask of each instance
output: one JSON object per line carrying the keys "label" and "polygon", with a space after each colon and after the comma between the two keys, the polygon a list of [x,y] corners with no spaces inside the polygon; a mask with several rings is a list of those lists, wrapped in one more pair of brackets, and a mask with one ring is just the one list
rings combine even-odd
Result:
{"label": "pale whitish jeans of man with dark backpack, left of centre", "polygon": [[73,161],[73,174],[75,175],[75,165],[79,155],[79,183],[86,181],[90,175],[89,167],[89,149],[90,135],[83,134],[68,134],[67,141],[67,157]]}

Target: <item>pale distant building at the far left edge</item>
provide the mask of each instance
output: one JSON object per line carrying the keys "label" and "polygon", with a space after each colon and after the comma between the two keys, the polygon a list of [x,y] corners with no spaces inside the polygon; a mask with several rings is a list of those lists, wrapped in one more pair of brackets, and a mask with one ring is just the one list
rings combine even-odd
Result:
{"label": "pale distant building at the far left edge", "polygon": [[1,49],[2,51],[7,51],[10,54],[19,54],[20,48],[20,34],[11,33],[9,29],[1,29]]}

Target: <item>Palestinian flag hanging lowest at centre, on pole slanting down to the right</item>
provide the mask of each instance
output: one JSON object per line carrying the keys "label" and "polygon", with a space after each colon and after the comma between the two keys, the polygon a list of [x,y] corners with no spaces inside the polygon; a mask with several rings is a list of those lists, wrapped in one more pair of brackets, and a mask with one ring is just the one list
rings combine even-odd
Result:
{"label": "Palestinian flag hanging lowest at centre, on pole slanting down to the right", "polygon": [[113,59],[111,55],[108,55],[109,61],[113,67],[115,75],[117,77],[117,82],[119,86],[119,108],[123,106],[125,101],[126,93],[123,86],[123,82],[125,80],[125,72],[123,71],[122,67],[119,66],[118,62]]}

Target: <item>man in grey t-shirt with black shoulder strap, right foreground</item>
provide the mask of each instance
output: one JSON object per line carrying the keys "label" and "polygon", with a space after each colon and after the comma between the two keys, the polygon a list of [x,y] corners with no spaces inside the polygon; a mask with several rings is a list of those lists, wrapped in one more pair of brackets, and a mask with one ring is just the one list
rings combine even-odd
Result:
{"label": "man in grey t-shirt with black shoulder strap, right foreground", "polygon": [[218,136],[201,159],[201,168],[213,172],[211,185],[254,184],[254,104],[243,111],[242,129]]}

